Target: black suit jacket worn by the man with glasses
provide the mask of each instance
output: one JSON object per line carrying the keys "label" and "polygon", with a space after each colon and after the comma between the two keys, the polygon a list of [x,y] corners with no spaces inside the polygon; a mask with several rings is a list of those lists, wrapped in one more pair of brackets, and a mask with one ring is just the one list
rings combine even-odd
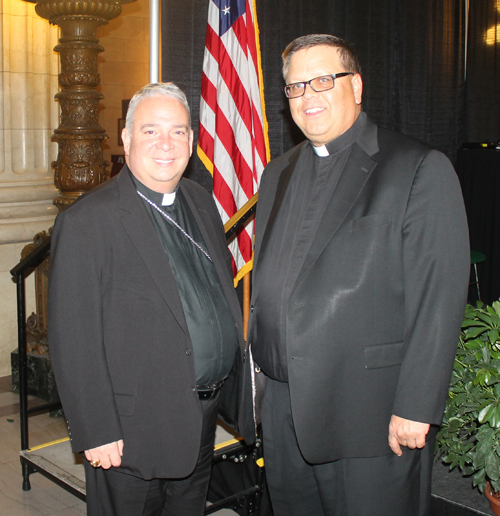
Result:
{"label": "black suit jacket worn by the man with glasses", "polygon": [[[259,332],[259,262],[303,146],[272,161],[261,182],[250,350],[271,345]],[[289,387],[306,460],[392,453],[391,414],[440,423],[469,271],[466,216],[448,159],[368,121],[289,278]]]}

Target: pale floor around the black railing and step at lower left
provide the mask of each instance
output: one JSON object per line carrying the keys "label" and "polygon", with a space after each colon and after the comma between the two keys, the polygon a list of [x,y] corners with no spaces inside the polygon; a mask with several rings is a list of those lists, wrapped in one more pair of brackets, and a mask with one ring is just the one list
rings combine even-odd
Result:
{"label": "pale floor around the black railing and step at lower left", "polygon": [[[30,406],[39,400],[31,397]],[[68,436],[64,418],[37,414],[29,420],[29,445],[35,447]],[[11,378],[0,378],[0,516],[84,516],[86,504],[39,473],[30,476],[31,491],[22,490],[19,396]],[[236,513],[222,509],[216,516]]]}

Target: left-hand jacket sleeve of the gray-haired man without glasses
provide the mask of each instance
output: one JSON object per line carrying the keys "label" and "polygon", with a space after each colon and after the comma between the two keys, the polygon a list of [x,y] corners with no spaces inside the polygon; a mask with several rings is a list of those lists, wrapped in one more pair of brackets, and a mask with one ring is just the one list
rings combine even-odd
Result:
{"label": "left-hand jacket sleeve of the gray-haired man without glasses", "polygon": [[49,348],[74,452],[123,438],[106,360],[95,247],[70,212],[57,217],[51,244]]}

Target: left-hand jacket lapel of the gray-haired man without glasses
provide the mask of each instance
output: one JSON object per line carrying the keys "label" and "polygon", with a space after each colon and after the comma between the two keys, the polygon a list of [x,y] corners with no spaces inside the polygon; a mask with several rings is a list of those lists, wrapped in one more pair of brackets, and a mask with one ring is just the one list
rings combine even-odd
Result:
{"label": "left-hand jacket lapel of the gray-haired man without glasses", "polygon": [[118,177],[119,206],[122,211],[121,222],[143,259],[144,265],[156,283],[165,303],[170,308],[180,327],[189,336],[184,310],[168,258],[144,207],[144,203],[137,195],[130,174],[128,167],[125,166]]}

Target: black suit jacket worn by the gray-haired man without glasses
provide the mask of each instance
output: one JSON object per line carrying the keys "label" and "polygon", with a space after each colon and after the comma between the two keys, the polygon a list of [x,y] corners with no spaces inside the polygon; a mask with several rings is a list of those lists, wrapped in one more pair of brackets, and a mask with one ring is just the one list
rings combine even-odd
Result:
{"label": "black suit jacket worn by the gray-haired man without glasses", "polygon": [[[180,188],[241,335],[215,204],[188,179]],[[50,354],[73,450],[123,439],[124,472],[190,474],[202,427],[191,341],[168,259],[127,167],[58,215],[51,255]],[[240,338],[236,369],[242,354]],[[223,390],[233,388],[230,380]],[[222,411],[233,423],[237,392],[226,395]]]}

